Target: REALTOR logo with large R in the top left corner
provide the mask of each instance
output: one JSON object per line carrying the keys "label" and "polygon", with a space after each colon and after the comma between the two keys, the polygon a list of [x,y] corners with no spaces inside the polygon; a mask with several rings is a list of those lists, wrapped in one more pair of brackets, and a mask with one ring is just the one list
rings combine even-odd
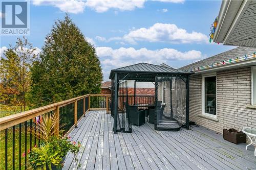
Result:
{"label": "REALTOR logo with large R in the top left corner", "polygon": [[1,35],[29,35],[28,2],[2,2]]}

